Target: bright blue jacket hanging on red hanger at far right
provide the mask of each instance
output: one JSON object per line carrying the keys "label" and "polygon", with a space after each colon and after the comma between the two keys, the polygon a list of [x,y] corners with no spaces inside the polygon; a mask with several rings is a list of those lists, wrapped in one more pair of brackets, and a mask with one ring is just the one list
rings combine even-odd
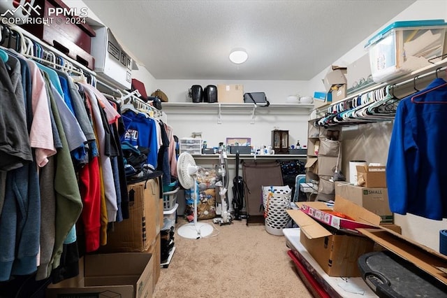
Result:
{"label": "bright blue jacket hanging on red hanger at far right", "polygon": [[[417,94],[422,95],[415,101],[424,104],[411,101]],[[432,220],[447,218],[446,120],[447,83],[441,78],[400,101],[386,164],[391,211]]]}

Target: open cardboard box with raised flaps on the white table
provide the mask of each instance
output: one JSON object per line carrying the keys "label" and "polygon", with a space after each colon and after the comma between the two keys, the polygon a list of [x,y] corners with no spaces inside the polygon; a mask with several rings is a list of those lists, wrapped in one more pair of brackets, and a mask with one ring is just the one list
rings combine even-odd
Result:
{"label": "open cardboard box with raised flaps on the white table", "polygon": [[[318,210],[332,210],[321,201],[305,201],[303,204]],[[378,226],[380,217],[346,199],[335,200],[333,211],[344,213],[357,222]],[[330,226],[318,223],[301,210],[287,213],[300,226],[300,241],[316,262],[329,276],[360,276],[357,260],[360,255],[374,250],[374,241],[359,234],[342,234]],[[337,232],[335,232],[337,231]]]}

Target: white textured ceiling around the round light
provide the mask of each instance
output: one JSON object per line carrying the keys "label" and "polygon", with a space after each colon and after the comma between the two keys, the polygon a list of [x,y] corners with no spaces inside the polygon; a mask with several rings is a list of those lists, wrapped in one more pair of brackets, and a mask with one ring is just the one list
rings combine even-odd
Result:
{"label": "white textured ceiling around the round light", "polygon": [[154,78],[192,80],[309,80],[414,2],[83,1]]}

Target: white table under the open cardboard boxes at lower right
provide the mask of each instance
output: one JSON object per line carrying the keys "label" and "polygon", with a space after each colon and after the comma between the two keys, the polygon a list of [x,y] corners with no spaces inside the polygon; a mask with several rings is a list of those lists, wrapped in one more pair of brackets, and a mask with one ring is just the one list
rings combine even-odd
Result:
{"label": "white table under the open cardboard boxes at lower right", "polygon": [[306,267],[307,271],[318,281],[321,288],[332,298],[367,298],[377,297],[368,287],[361,277],[332,277],[321,269],[320,265],[307,252],[300,243],[300,229],[283,229],[286,237],[286,245],[290,248],[294,255],[300,260],[300,263]]}

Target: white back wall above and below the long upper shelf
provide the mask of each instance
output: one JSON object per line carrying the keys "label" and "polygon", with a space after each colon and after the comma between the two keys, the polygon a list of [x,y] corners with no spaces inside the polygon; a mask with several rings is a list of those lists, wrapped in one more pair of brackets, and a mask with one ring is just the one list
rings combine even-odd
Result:
{"label": "white back wall above and below the long upper shelf", "polygon": [[[285,103],[286,97],[291,94],[309,94],[307,82],[298,80],[156,80],[156,88],[166,93],[169,102],[191,102],[187,94],[192,85],[205,87],[219,83],[242,84],[244,92],[265,92],[271,104]],[[308,115],[256,113],[255,123],[251,124],[251,111],[223,112],[221,124],[217,124],[217,111],[193,115],[189,115],[188,111],[175,115],[168,112],[168,124],[180,138],[191,136],[191,132],[203,132],[203,139],[210,147],[217,146],[221,141],[225,142],[227,137],[250,137],[253,145],[268,146],[271,143],[271,131],[275,127],[289,130],[290,145],[295,145],[298,140],[304,142],[302,145],[306,143]]]}

